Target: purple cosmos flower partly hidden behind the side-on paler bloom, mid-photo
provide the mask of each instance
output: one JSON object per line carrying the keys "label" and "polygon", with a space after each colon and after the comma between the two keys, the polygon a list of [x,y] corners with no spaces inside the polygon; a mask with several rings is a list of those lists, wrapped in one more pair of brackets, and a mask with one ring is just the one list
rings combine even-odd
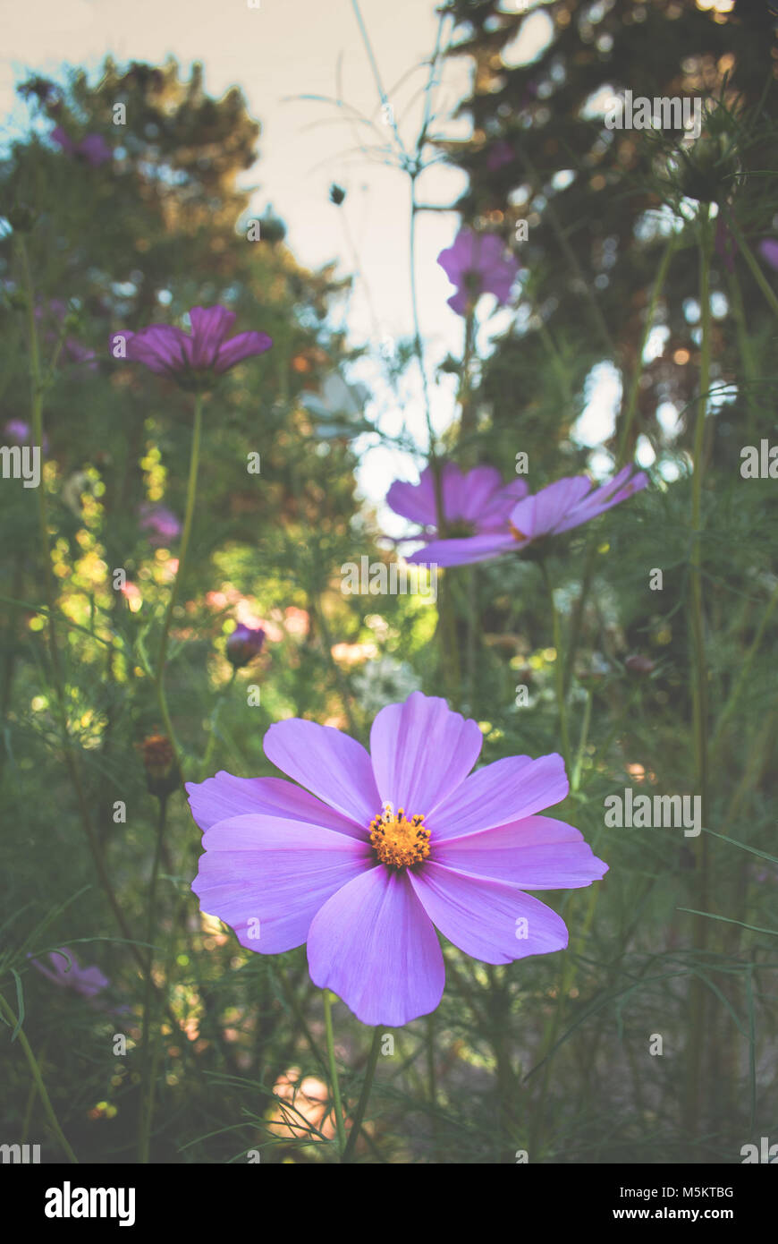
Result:
{"label": "purple cosmos flower partly hidden behind the side-on paler bloom, mid-photo", "polygon": [[[527,485],[522,479],[506,485],[496,466],[474,466],[465,474],[456,463],[446,463],[440,473],[445,531],[457,536],[507,534],[511,511],[526,494]],[[423,530],[413,539],[431,540],[437,534],[432,468],[426,466],[421,471],[418,484],[395,480],[387,493],[387,505],[404,519],[420,524]]]}

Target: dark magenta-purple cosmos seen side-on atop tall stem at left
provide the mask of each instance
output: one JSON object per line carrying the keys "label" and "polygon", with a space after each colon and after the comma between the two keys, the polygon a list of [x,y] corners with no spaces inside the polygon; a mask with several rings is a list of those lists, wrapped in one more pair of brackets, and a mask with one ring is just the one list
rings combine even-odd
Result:
{"label": "dark magenta-purple cosmos seen side-on atop tall stem at left", "polygon": [[266,332],[240,332],[227,338],[236,317],[222,306],[193,307],[189,318],[191,333],[173,325],[153,323],[140,332],[114,333],[112,347],[123,340],[127,358],[184,387],[199,388],[213,373],[220,376],[235,363],[251,355],[263,355],[272,346]]}

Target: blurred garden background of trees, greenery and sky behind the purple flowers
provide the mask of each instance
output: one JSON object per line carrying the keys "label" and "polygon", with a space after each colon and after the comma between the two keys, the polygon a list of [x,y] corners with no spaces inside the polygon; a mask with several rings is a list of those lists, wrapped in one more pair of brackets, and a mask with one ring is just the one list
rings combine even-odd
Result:
{"label": "blurred garden background of trees, greenery and sky behind the purple flowers", "polygon": [[[168,58],[117,26],[99,65],[55,71],[43,24],[12,62],[2,440],[43,465],[40,488],[0,481],[0,1141],[48,1162],[344,1156],[304,948],[251,953],[200,912],[175,768],[272,775],[273,723],[367,743],[419,689],[478,723],[481,763],[562,753],[553,815],[609,872],[543,894],[567,950],[490,965],[444,943],[442,1001],[387,1029],[359,1136],[370,1033],[334,1003],[348,1158],[739,1163],[778,1140],[777,484],[742,471],[778,444],[776,15],[235,4],[227,55],[255,40],[261,75],[339,41],[370,96],[353,104],[337,56],[329,98],[290,88],[277,109],[326,158],[278,139],[266,172],[246,83],[209,90],[209,39],[188,50],[198,7],[162,5]],[[701,136],[608,128],[626,90],[705,101]],[[307,204],[293,229],[280,165]],[[437,255],[462,226],[517,277],[457,315]],[[322,230],[338,250],[306,264]],[[203,403],[165,639],[194,394],[111,343],[217,304],[272,348]],[[633,462],[650,480],[543,555],[441,571],[436,601],[343,591],[344,565],[419,547],[398,551],[395,479],[431,455],[508,484],[518,454],[533,493]],[[236,624],[265,632],[245,663]],[[608,826],[626,787],[700,796],[703,831]],[[52,979],[57,948],[106,986]]]}

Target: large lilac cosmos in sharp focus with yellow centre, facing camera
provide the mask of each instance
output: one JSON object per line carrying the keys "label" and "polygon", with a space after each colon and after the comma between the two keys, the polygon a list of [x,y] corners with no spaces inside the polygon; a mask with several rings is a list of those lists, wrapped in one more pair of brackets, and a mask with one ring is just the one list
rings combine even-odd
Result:
{"label": "large lilac cosmos in sharp focus with yellow centre, facing camera", "polygon": [[475,722],[421,692],[380,710],[369,753],[314,722],[272,725],[265,755],[292,782],[186,785],[205,831],[201,909],[250,950],[307,942],[314,984],[393,1028],[440,1003],[436,928],[485,963],[563,949],[564,922],[524,889],[577,889],[608,866],[572,825],[537,816],[568,792],[562,756],[470,774],[481,744]]}

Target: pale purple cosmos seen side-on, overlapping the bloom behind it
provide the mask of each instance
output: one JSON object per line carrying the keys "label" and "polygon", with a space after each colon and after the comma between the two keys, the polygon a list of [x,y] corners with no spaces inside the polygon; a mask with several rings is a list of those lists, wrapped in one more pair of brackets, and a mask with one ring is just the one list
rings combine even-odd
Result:
{"label": "pale purple cosmos seen side-on, overlapping the bloom behind it", "polygon": [[526,549],[533,540],[542,536],[558,535],[579,527],[582,522],[595,519],[613,505],[626,500],[648,484],[643,471],[633,474],[631,465],[624,466],[618,475],[602,488],[587,475],[569,475],[548,484],[539,493],[524,496],[513,506],[508,516],[507,530],[486,532],[465,537],[464,540],[437,540],[413,554],[408,561],[435,562],[439,566],[466,566],[476,561],[488,561],[500,554]]}

